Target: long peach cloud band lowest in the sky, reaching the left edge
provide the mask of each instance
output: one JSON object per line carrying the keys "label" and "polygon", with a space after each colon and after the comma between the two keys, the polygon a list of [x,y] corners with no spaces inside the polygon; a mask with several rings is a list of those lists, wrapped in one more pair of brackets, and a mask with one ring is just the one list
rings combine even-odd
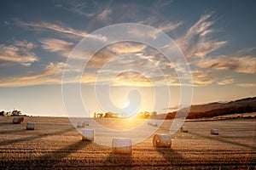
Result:
{"label": "long peach cloud band lowest in the sky, reaching the left edge", "polygon": [[37,74],[26,75],[24,77],[16,77],[3,79],[0,82],[1,87],[20,87],[38,84],[61,83],[61,73],[64,63],[49,63],[44,71]]}

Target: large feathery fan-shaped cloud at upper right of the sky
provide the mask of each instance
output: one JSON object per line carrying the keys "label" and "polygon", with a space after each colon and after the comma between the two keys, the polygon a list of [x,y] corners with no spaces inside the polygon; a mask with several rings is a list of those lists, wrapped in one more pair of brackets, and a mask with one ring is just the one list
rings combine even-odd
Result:
{"label": "large feathery fan-shaped cloud at upper right of the sky", "polygon": [[203,58],[227,43],[226,41],[212,40],[210,37],[210,34],[215,31],[212,28],[215,21],[210,20],[211,16],[212,14],[201,16],[201,19],[191,26],[183,37],[177,38],[177,44],[188,59]]}

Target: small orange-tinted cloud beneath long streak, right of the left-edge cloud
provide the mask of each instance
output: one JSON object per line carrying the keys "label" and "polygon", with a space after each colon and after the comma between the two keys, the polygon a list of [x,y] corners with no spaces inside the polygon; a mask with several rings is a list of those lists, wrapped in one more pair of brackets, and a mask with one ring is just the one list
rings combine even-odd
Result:
{"label": "small orange-tinted cloud beneath long streak, right of the left-edge cloud", "polygon": [[61,39],[44,38],[39,40],[42,43],[42,48],[50,52],[58,52],[62,56],[68,57],[73,48],[73,42],[67,42]]}

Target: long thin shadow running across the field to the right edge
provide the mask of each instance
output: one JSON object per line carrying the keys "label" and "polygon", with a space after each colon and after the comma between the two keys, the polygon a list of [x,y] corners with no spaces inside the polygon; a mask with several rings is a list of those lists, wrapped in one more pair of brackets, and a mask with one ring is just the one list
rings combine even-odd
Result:
{"label": "long thin shadow running across the field to the right edge", "polygon": [[[230,141],[230,140],[227,140],[227,139],[222,139],[221,137],[214,138],[213,136],[205,136],[205,135],[202,135],[202,134],[199,134],[199,133],[192,133],[192,132],[189,132],[189,133],[195,134],[196,136],[199,136],[201,138],[212,139],[212,140],[216,140],[218,142],[222,142],[222,143],[225,143],[225,144],[233,144],[233,145],[242,146],[242,147],[246,147],[248,149],[253,149],[253,150],[256,149],[256,146],[249,145],[249,144],[241,144],[241,143],[238,143],[238,142],[235,142],[235,141]],[[217,137],[217,136],[215,136],[215,137]],[[254,137],[252,137],[252,138],[254,138]]]}

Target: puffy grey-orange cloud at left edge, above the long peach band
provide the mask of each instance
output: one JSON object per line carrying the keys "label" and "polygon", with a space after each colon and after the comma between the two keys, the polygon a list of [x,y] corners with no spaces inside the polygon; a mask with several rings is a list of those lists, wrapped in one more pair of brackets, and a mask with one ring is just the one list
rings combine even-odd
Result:
{"label": "puffy grey-orange cloud at left edge, above the long peach band", "polygon": [[31,51],[35,47],[35,44],[26,41],[16,41],[14,45],[0,44],[0,60],[29,66],[38,61],[36,54]]}

